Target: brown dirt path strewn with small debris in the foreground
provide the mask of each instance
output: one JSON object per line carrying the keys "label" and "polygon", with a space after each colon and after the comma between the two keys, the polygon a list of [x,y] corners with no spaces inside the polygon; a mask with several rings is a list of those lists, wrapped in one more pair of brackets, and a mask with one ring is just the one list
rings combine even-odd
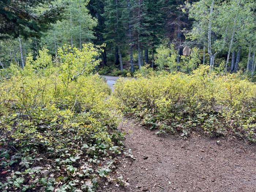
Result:
{"label": "brown dirt path strewn with small debris in the foreground", "polygon": [[[125,146],[132,158],[120,158],[116,172],[129,182],[126,188],[104,185],[104,192],[255,192],[256,149],[234,138],[192,135],[160,137],[127,120],[119,127],[127,132]],[[128,150],[127,150],[128,151]]]}

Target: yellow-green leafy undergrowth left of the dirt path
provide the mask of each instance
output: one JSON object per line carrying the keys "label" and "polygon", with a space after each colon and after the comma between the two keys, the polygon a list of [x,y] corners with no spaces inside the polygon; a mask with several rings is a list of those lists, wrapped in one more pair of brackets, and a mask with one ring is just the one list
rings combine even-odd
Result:
{"label": "yellow-green leafy undergrowth left of the dirt path", "polygon": [[[13,66],[16,75],[0,82],[3,192],[92,192],[121,153],[120,116],[107,99],[111,90],[89,74],[94,65],[82,65],[95,62],[97,52],[64,50],[57,63],[47,50],[36,61],[28,58],[24,70]],[[80,68],[88,70],[76,76]]]}

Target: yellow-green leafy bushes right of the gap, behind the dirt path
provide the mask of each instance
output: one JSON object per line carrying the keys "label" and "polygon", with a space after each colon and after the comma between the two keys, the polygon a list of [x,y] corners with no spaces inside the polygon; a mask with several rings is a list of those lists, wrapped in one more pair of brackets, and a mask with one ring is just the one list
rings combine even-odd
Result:
{"label": "yellow-green leafy bushes right of the gap, behind the dirt path", "polygon": [[159,129],[158,133],[187,137],[197,130],[256,142],[256,84],[238,74],[222,76],[202,66],[191,75],[120,79],[115,87],[120,108]]}

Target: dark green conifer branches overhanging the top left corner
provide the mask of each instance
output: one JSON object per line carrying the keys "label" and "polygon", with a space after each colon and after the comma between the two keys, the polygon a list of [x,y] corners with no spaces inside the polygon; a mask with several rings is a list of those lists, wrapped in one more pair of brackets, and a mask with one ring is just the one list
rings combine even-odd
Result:
{"label": "dark green conifer branches overhanging the top left corner", "polygon": [[[22,35],[40,37],[50,23],[60,19],[65,4],[52,5],[52,0],[0,1],[0,39]],[[49,8],[45,8],[45,5]],[[34,8],[33,8],[34,7]]]}

